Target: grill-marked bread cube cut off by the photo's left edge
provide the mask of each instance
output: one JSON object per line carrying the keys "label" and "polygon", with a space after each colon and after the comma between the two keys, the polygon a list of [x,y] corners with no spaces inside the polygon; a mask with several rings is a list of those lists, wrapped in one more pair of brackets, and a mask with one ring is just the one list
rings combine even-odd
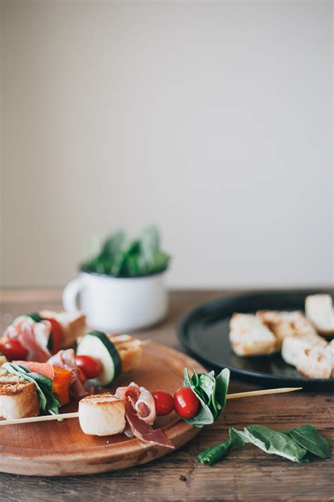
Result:
{"label": "grill-marked bread cube cut off by the photo's left edge", "polygon": [[37,415],[39,400],[35,383],[0,368],[0,417],[11,420]]}

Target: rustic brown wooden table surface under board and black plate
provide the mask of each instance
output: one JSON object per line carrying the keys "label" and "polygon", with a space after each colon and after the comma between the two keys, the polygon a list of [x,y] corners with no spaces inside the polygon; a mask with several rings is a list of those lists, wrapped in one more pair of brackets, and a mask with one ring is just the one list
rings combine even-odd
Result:
{"label": "rustic brown wooden table surface under board and black plate", "polygon": [[[172,292],[166,321],[137,333],[182,350],[175,326],[195,304],[235,291]],[[61,309],[61,292],[7,290],[1,292],[1,328],[19,313],[42,308]],[[232,378],[230,392],[256,386]],[[332,393],[291,393],[230,400],[223,417],[204,428],[186,446],[159,460],[128,470],[66,478],[22,477],[0,474],[0,500],[5,501],[334,501],[333,460],[295,464],[266,455],[249,446],[233,451],[221,462],[207,467],[196,460],[199,451],[228,438],[228,428],[263,424],[285,429],[311,424],[328,438],[334,434]],[[331,446],[334,445],[330,441]]]}

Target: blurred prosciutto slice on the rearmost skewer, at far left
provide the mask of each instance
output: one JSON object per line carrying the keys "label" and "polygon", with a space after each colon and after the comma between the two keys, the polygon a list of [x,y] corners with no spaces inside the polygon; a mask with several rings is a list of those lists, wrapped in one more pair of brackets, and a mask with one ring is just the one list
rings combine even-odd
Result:
{"label": "blurred prosciutto slice on the rearmost skewer, at far left", "polygon": [[45,362],[51,356],[47,343],[51,333],[51,323],[40,323],[23,319],[16,325],[10,325],[4,333],[4,337],[18,340],[27,349],[27,360]]}

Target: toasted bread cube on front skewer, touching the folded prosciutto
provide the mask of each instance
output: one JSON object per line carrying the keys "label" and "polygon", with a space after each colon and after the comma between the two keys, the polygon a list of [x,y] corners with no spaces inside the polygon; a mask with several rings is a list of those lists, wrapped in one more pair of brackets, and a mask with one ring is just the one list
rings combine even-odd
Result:
{"label": "toasted bread cube on front skewer, touching the folded prosciutto", "polygon": [[112,394],[88,395],[79,402],[79,422],[91,436],[111,436],[125,429],[125,408]]}

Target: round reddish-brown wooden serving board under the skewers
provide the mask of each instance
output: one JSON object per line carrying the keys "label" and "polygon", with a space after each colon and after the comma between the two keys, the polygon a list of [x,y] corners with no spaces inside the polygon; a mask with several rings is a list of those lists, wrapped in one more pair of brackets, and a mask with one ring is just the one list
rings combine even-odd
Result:
{"label": "round reddish-brown wooden serving board under the skewers", "polygon": [[[143,347],[142,363],[131,373],[118,376],[116,387],[135,381],[140,386],[168,390],[174,393],[182,386],[183,369],[205,371],[197,361],[176,350],[150,342]],[[61,412],[73,412],[78,405],[67,405]],[[201,429],[190,426],[174,412],[158,417],[154,427],[160,427],[180,448]],[[28,476],[68,476],[93,474],[144,464],[173,450],[137,438],[87,436],[80,429],[78,418],[0,427],[0,471]]]}

